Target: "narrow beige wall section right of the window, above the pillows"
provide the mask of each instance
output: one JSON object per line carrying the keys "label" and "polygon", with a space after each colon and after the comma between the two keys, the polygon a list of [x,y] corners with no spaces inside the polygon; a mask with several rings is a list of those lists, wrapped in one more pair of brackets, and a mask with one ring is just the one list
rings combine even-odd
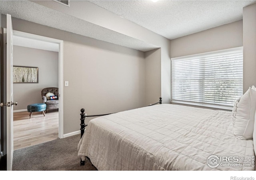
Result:
{"label": "narrow beige wall section right of the window, above the pillows", "polygon": [[256,86],[256,4],[243,8],[244,92]]}

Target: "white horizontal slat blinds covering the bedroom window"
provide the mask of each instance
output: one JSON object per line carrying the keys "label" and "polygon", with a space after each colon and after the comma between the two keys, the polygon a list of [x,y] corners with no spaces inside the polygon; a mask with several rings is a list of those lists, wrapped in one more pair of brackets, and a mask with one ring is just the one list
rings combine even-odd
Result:
{"label": "white horizontal slat blinds covering the bedroom window", "polygon": [[172,103],[232,109],[243,94],[243,48],[171,59]]}

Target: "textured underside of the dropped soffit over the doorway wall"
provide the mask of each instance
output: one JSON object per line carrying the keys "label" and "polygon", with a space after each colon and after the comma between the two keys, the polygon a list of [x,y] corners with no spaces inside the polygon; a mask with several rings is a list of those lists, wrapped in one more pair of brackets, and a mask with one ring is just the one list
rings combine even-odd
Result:
{"label": "textured underside of the dropped soffit over the doorway wall", "polygon": [[72,32],[82,36],[110,42],[143,52],[159,48],[154,44],[127,36],[120,32],[98,26],[51,8],[30,1],[0,1],[0,13],[42,24],[52,28]]}

